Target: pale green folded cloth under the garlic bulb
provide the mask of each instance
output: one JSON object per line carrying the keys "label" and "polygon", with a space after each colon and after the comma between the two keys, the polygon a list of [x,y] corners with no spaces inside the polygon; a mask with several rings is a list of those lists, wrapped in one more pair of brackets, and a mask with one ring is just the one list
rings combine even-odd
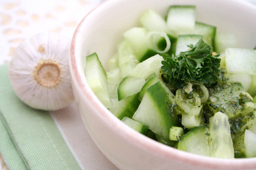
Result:
{"label": "pale green folded cloth under the garlic bulb", "polygon": [[9,169],[81,169],[51,114],[15,95],[0,66],[0,153]]}

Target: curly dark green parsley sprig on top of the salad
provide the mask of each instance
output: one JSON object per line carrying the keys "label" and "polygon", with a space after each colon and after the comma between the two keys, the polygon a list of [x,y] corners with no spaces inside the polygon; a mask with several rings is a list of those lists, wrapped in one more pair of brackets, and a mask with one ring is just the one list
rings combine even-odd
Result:
{"label": "curly dark green parsley sprig on top of the salad", "polygon": [[205,86],[216,83],[220,72],[220,54],[213,56],[212,48],[202,39],[188,47],[191,49],[174,57],[164,54],[162,69],[167,73],[168,84],[182,88],[188,82],[203,82]]}

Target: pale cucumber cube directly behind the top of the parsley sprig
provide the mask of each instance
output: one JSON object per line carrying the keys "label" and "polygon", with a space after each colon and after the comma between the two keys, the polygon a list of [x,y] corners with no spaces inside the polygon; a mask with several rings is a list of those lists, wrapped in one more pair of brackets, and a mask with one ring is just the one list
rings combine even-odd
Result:
{"label": "pale cucumber cube directly behind the top of the parsley sprig", "polygon": [[195,45],[203,36],[201,35],[179,35],[177,38],[175,55],[179,55],[180,52],[185,52],[188,49],[188,45]]}

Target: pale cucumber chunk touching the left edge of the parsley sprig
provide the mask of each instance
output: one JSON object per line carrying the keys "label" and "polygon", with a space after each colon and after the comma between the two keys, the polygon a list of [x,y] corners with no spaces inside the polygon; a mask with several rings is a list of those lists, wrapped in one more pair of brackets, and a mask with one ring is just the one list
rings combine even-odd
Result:
{"label": "pale cucumber chunk touching the left edge of the parsley sprig", "polygon": [[131,76],[147,80],[152,74],[162,67],[163,57],[159,54],[139,63],[132,71]]}

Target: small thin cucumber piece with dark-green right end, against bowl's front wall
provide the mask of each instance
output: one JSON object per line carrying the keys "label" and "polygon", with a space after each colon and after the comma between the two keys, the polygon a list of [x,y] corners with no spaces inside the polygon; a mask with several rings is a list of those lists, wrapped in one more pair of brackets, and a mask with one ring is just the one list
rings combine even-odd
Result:
{"label": "small thin cucumber piece with dark-green right end, against bowl's front wall", "polygon": [[141,134],[146,135],[148,132],[148,127],[146,125],[143,125],[141,122],[135,121],[129,117],[122,118],[122,122],[124,122],[127,126],[130,126],[130,128],[133,128]]}

